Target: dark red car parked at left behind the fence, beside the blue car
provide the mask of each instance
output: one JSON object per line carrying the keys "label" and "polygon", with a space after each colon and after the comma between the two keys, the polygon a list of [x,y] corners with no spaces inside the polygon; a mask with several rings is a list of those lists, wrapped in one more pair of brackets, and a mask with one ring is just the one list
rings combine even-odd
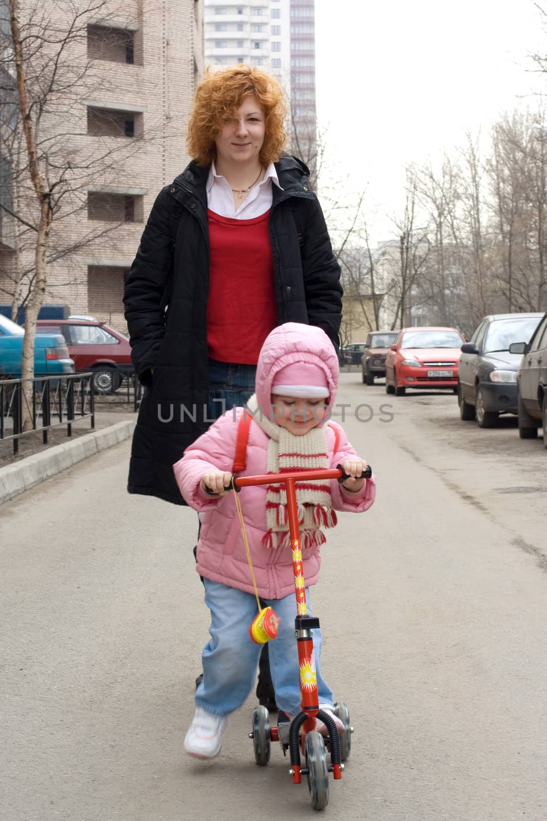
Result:
{"label": "dark red car parked at left behind the fence, beside the blue car", "polygon": [[95,371],[96,393],[115,392],[133,373],[129,339],[102,322],[39,319],[36,333],[62,333],[76,371]]}

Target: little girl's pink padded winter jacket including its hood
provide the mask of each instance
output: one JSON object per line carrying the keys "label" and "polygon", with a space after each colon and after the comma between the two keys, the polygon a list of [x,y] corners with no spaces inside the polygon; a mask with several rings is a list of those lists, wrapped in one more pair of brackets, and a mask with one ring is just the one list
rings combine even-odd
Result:
{"label": "little girl's pink padded winter jacket including its hood", "polygon": [[[291,362],[312,360],[326,371],[330,384],[330,406],[334,404],[338,383],[338,360],[330,339],[320,328],[298,323],[285,323],[276,328],[262,347],[257,367],[257,399],[259,405],[269,405],[271,382],[280,368]],[[276,333],[279,332],[279,333]],[[304,339],[302,337],[305,337]],[[175,479],[190,507],[203,511],[201,531],[198,541],[196,569],[201,576],[221,582],[230,587],[253,593],[253,582],[245,553],[239,519],[235,508],[234,494],[211,497],[201,488],[201,479],[209,470],[231,472],[237,438],[239,419],[243,408],[225,416],[212,424],[203,433],[175,466]],[[336,452],[335,433],[338,430],[339,443]],[[247,464],[242,476],[267,473],[267,433],[256,422],[251,422]],[[330,467],[335,467],[346,459],[354,459],[357,454],[349,444],[344,429],[335,422],[326,428],[326,443],[330,456]],[[362,491],[343,496],[336,479],[330,481],[332,507],[337,511],[360,513],[374,502],[376,483],[374,478],[365,480]],[[267,531],[265,485],[242,488],[239,493],[244,514],[245,528],[258,594],[264,599],[281,599],[294,591],[292,556],[289,548],[268,549],[262,546],[262,536]],[[327,531],[328,533],[328,531]],[[315,585],[321,565],[320,548],[303,550],[303,575],[306,585]]]}

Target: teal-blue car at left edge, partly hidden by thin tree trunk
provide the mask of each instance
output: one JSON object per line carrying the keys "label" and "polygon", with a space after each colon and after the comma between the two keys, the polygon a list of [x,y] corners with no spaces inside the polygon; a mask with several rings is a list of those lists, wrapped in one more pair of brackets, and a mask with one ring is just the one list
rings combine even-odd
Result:
{"label": "teal-blue car at left edge, partly hidden by thin tree trunk", "polygon": [[[0,379],[21,378],[25,329],[0,314]],[[65,337],[40,334],[34,342],[34,376],[74,374]]]}

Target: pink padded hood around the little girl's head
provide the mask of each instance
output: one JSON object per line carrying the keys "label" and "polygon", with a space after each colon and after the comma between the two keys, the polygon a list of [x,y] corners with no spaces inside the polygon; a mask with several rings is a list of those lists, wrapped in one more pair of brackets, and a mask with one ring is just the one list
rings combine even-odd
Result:
{"label": "pink padded hood around the little girl's head", "polygon": [[311,363],[321,368],[329,388],[328,407],[336,399],[340,369],[335,347],[326,333],[315,325],[286,322],[268,334],[258,355],[255,393],[263,414],[270,415],[271,384],[286,365]]}

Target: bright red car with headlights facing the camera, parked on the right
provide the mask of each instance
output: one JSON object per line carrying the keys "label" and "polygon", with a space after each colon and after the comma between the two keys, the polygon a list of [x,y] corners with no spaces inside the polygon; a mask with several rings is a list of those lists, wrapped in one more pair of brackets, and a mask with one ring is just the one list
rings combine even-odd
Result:
{"label": "bright red car with headlights facing the camera, parked on the right", "polygon": [[398,397],[407,388],[456,392],[463,342],[456,328],[403,328],[385,357],[385,392]]}

